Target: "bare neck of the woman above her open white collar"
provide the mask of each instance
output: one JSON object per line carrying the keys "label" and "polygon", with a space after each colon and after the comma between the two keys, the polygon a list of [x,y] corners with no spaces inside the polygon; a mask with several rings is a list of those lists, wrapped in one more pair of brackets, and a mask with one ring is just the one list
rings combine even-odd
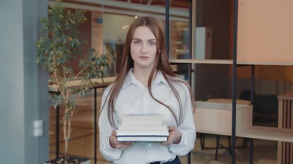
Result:
{"label": "bare neck of the woman above her open white collar", "polygon": [[[134,66],[133,75],[138,81],[142,82],[147,87],[147,81],[148,81],[148,77],[150,75],[151,69],[152,67],[143,68],[143,67]],[[156,74],[157,74],[157,70],[154,71],[151,81],[154,80]]]}

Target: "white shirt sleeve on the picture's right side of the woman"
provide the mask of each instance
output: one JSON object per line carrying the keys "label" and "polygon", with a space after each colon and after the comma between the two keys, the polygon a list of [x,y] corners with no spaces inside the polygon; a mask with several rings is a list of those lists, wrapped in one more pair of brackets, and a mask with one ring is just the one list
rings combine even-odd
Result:
{"label": "white shirt sleeve on the picture's right side of the woman", "polygon": [[170,145],[170,151],[174,155],[183,156],[188,154],[194,147],[196,139],[195,125],[192,113],[192,104],[190,99],[189,90],[184,87],[182,107],[182,123],[179,124],[178,130],[181,132],[181,141],[179,144]]}

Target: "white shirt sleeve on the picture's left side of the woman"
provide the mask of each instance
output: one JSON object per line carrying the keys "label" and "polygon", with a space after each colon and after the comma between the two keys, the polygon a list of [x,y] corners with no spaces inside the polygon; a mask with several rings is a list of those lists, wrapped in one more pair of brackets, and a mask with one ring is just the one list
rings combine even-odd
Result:
{"label": "white shirt sleeve on the picture's left side of the woman", "polygon": [[[104,105],[104,108],[102,109],[102,106],[105,101],[106,103]],[[120,159],[122,150],[113,149],[110,146],[109,138],[110,138],[112,130],[115,130],[115,128],[112,127],[109,123],[107,107],[108,107],[108,100],[106,100],[106,96],[104,93],[102,98],[102,103],[101,103],[101,114],[100,114],[99,123],[98,123],[99,134],[100,134],[100,152],[107,161],[117,161]],[[114,120],[116,125],[118,125],[115,114],[114,114]]]}

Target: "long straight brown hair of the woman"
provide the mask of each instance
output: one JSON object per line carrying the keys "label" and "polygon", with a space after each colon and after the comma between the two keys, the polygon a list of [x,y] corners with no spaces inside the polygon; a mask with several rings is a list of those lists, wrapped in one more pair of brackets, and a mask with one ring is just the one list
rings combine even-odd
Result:
{"label": "long straight brown hair of the woman", "polygon": [[[125,46],[124,46],[122,63],[121,63],[121,68],[120,68],[119,74],[118,74],[116,80],[114,81],[112,87],[110,88],[110,91],[106,97],[106,100],[105,100],[101,110],[104,108],[105,103],[106,103],[108,97],[110,96],[109,102],[108,102],[108,108],[107,108],[108,109],[108,120],[109,120],[111,126],[116,128],[116,125],[115,125],[114,119],[113,119],[114,104],[116,102],[117,95],[119,94],[119,91],[122,87],[122,84],[124,82],[124,79],[125,79],[127,73],[129,72],[129,70],[131,68],[134,67],[134,61],[133,61],[131,54],[130,54],[130,44],[133,39],[135,29],[138,27],[141,27],[141,26],[147,26],[151,30],[151,32],[154,34],[154,36],[156,38],[156,42],[157,42],[157,44],[156,44],[157,51],[156,51],[156,55],[155,55],[154,65],[153,65],[153,68],[150,72],[150,75],[149,75],[148,81],[147,81],[148,92],[149,92],[150,96],[156,102],[162,104],[163,106],[165,106],[166,108],[169,109],[169,111],[172,113],[172,115],[177,123],[177,126],[178,126],[180,121],[182,121],[182,102],[181,102],[179,94],[178,94],[177,90],[174,88],[172,82],[173,83],[182,83],[188,87],[188,89],[190,91],[190,98],[191,98],[191,102],[192,102],[192,107],[194,107],[194,110],[195,110],[195,100],[194,100],[192,91],[191,91],[188,83],[184,82],[182,80],[179,80],[175,76],[175,74],[173,73],[173,71],[170,67],[169,61],[168,61],[168,57],[167,57],[165,39],[164,39],[162,28],[159,25],[159,23],[157,22],[157,20],[152,17],[140,17],[140,18],[136,19],[130,25],[129,30],[127,32],[126,40],[125,40]],[[167,83],[169,84],[171,90],[173,91],[173,93],[179,103],[179,107],[180,107],[179,120],[176,117],[174,111],[169,106],[167,106],[163,102],[157,100],[152,95],[150,84],[151,84],[153,74],[156,70],[161,71],[162,75],[166,79]],[[101,114],[101,112],[100,112],[100,114]]]}

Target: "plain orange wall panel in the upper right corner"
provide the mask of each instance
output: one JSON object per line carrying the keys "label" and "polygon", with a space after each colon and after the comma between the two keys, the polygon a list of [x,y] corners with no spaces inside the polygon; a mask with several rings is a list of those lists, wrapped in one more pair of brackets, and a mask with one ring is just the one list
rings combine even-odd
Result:
{"label": "plain orange wall panel in the upper right corner", "polygon": [[239,0],[237,61],[293,62],[293,0]]}

